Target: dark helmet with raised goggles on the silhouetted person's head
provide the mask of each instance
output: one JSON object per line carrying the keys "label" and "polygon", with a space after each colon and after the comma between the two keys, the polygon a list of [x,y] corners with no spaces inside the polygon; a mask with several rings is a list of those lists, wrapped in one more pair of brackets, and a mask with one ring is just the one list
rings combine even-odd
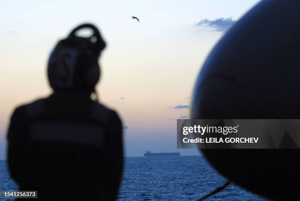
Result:
{"label": "dark helmet with raised goggles on the silhouetted person's head", "polygon": [[[83,28],[92,29],[93,34],[88,38],[76,36]],[[104,48],[105,42],[94,25],[84,24],[73,29],[50,54],[48,78],[52,89],[93,92],[100,78],[98,59]]]}

